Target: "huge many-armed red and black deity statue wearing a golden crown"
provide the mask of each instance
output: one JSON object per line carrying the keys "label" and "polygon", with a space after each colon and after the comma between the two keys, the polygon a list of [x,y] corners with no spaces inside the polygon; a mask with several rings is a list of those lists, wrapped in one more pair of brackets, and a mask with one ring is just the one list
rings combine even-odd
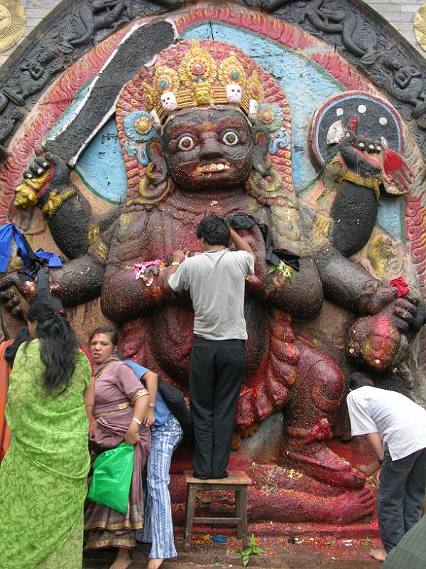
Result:
{"label": "huge many-armed red and black deity statue wearing a golden crown", "polygon": [[[348,358],[376,371],[403,360],[408,337],[423,324],[420,297],[398,298],[396,288],[349,257],[371,236],[379,196],[410,190],[408,164],[383,141],[357,133],[356,118],[334,124],[329,143],[339,151],[339,190],[329,213],[302,205],[293,190],[285,92],[239,48],[217,41],[181,41],[159,53],[124,86],[116,124],[128,192],[100,226],[60,156],[38,156],[16,189],[16,206],[42,208],[70,258],[50,270],[53,294],[69,306],[100,294],[103,314],[120,326],[124,355],[186,389],[193,313],[189,296],[164,286],[171,255],[197,251],[195,229],[205,215],[244,212],[266,223],[276,248],[300,255],[300,270],[266,261],[258,225],[241,230],[257,262],[246,281],[249,340],[235,429],[251,435],[283,410],[279,464],[310,477],[327,497],[313,500],[302,482],[289,492],[278,468],[273,499],[251,489],[251,516],[340,523],[364,516],[374,503],[364,474],[327,447],[344,395],[342,371],[321,346],[295,333],[293,319],[314,319],[327,299],[360,317],[348,336]],[[135,142],[145,161],[124,151]],[[90,245],[94,225],[99,235]],[[80,238],[70,239],[72,233]],[[18,291],[28,298],[30,289],[13,273],[0,285],[4,306],[19,317]]]}

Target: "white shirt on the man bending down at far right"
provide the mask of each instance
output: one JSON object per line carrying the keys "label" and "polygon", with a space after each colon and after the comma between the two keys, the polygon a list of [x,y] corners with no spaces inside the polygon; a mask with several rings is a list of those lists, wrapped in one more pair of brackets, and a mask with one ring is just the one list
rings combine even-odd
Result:
{"label": "white shirt on the man bending down at far right", "polygon": [[346,398],[353,436],[378,432],[392,460],[426,447],[426,410],[405,395],[364,385]]}

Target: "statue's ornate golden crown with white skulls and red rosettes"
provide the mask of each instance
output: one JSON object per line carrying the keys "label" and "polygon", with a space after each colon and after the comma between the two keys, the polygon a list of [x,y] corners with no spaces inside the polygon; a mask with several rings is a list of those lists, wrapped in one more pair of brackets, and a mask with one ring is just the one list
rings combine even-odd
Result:
{"label": "statue's ornate golden crown with white skulls and red rosettes", "polygon": [[257,71],[235,46],[206,44],[204,48],[197,40],[181,42],[175,58],[168,50],[167,60],[160,54],[153,65],[141,70],[140,95],[155,127],[177,110],[204,105],[235,105],[251,121],[256,119],[263,101]]}

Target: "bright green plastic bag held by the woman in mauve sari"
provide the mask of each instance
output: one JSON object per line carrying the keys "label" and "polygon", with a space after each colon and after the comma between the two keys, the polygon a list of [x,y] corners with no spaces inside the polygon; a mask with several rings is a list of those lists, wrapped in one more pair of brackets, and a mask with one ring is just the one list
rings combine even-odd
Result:
{"label": "bright green plastic bag held by the woman in mauve sari", "polygon": [[99,454],[93,463],[89,500],[126,514],[131,476],[133,445],[121,442],[118,447]]}

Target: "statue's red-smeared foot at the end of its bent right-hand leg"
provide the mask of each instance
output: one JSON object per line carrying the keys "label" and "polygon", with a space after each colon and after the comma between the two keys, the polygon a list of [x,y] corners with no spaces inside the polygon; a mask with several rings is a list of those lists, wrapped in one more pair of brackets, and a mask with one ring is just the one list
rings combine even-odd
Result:
{"label": "statue's red-smeared foot at the end of its bent right-hand leg", "polygon": [[323,442],[310,442],[300,447],[284,448],[283,464],[304,474],[345,488],[360,489],[366,482],[364,474],[351,467]]}

